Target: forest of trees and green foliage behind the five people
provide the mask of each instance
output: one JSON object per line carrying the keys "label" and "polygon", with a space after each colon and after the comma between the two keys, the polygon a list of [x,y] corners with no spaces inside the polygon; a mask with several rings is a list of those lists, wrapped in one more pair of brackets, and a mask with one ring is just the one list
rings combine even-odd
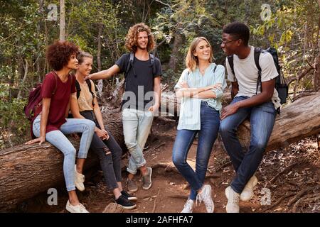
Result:
{"label": "forest of trees and green foliage behind the five people", "polygon": [[[223,25],[242,21],[250,26],[250,45],[277,48],[290,102],[319,89],[314,70],[320,50],[319,5],[316,0],[0,0],[0,149],[29,139],[23,106],[28,91],[50,72],[46,46],[58,40],[61,31],[65,40],[94,55],[92,72],[97,72],[127,52],[124,37],[130,26],[148,24],[156,38],[152,52],[163,67],[162,84],[172,89],[193,38],[208,38],[215,61],[224,65]],[[103,81],[102,96],[113,92],[117,82]]]}

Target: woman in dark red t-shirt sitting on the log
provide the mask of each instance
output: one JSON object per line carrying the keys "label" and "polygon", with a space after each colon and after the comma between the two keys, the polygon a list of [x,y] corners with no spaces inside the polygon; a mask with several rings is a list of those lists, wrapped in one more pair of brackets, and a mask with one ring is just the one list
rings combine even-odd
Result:
{"label": "woman in dark red t-shirt sitting on the log", "polygon": [[[33,138],[37,138],[26,144],[41,145],[47,140],[63,153],[63,174],[69,195],[65,209],[71,213],[88,213],[85,206],[80,204],[75,187],[80,191],[85,189],[82,167],[95,132],[95,123],[87,119],[66,118],[71,94],[75,93],[75,76],[70,74],[70,70],[78,69],[77,53],[78,47],[68,41],[55,41],[48,47],[46,58],[53,71],[46,74],[43,80],[42,106],[36,111],[32,123]],[[65,134],[70,133],[82,133],[77,165],[76,150],[65,137]]]}

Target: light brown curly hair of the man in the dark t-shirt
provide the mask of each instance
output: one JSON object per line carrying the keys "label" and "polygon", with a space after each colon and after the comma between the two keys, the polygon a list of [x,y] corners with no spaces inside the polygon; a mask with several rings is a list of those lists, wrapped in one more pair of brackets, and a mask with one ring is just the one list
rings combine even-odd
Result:
{"label": "light brown curly hair of the man in the dark t-shirt", "polygon": [[137,38],[139,32],[142,31],[146,31],[146,33],[148,34],[148,45],[146,46],[146,49],[148,50],[148,52],[154,49],[154,35],[151,33],[151,29],[149,28],[149,26],[146,26],[145,23],[137,23],[129,28],[126,36],[125,46],[130,52],[137,51]]}

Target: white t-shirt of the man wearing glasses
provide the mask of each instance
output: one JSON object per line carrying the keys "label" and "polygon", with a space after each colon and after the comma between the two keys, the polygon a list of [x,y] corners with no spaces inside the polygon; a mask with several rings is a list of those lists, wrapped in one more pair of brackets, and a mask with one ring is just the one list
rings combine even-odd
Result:
{"label": "white t-shirt of the man wearing glasses", "polygon": [[[233,74],[228,57],[225,60],[225,65],[227,67],[228,79],[230,82],[238,82],[239,92],[236,96],[249,96],[255,95],[256,91],[259,94],[261,92],[259,84],[257,90],[257,77],[258,69],[255,65],[255,48],[250,46],[250,54],[245,59],[240,59],[237,55],[233,55],[233,69],[235,70],[235,75]],[[259,57],[259,65],[261,67],[261,82],[269,81],[278,76],[277,68],[274,65],[273,57],[270,52],[262,52]],[[274,108],[278,109],[280,104],[280,99],[277,90],[274,88],[272,103]]]}

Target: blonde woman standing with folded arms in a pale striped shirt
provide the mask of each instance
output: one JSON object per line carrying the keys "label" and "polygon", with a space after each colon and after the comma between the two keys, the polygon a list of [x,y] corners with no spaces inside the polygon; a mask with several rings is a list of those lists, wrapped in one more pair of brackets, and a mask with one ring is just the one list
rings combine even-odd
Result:
{"label": "blonde woman standing with folded arms in a pale striped shirt", "polygon": [[[176,84],[176,96],[181,97],[178,131],[172,160],[191,185],[188,200],[181,211],[192,213],[195,200],[203,201],[208,213],[213,213],[211,187],[203,184],[208,160],[220,126],[221,97],[226,87],[225,67],[215,65],[213,50],[204,37],[191,43],[186,57],[186,70]],[[198,134],[196,171],[186,162],[188,151]]]}

